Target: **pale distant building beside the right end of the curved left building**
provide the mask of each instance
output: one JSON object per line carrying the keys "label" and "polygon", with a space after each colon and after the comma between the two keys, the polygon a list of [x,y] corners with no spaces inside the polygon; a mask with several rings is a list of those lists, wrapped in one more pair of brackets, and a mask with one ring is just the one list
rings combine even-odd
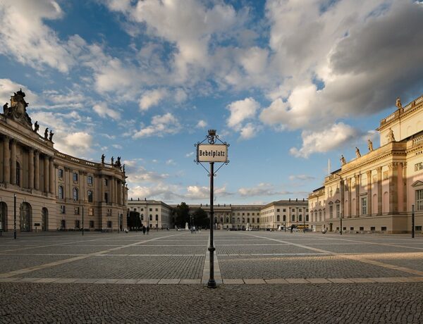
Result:
{"label": "pale distant building beside the right end of the curved left building", "polygon": [[136,211],[140,213],[142,225],[149,228],[162,229],[172,228],[172,207],[163,201],[147,199],[128,200],[128,212]]}

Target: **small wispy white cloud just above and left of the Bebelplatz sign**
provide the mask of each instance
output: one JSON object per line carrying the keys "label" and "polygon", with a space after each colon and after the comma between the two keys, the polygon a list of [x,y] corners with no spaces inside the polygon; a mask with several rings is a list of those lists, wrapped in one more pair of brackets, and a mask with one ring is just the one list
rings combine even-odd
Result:
{"label": "small wispy white cloud just above and left of the Bebelplatz sign", "polygon": [[173,116],[171,113],[166,113],[162,116],[153,116],[151,125],[135,132],[133,138],[137,139],[140,137],[151,136],[163,137],[164,135],[176,134],[180,131],[180,129],[181,126],[178,118]]}

